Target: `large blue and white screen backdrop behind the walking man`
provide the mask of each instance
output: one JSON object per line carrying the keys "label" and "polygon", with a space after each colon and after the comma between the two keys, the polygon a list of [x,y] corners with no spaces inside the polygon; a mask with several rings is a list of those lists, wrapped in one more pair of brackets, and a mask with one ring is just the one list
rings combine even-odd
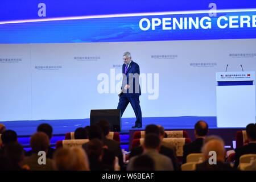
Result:
{"label": "large blue and white screen backdrop behind the walking man", "polygon": [[[142,117],[214,117],[216,72],[256,71],[254,1],[0,5],[0,121],[117,109],[126,51],[141,71]],[[123,117],[135,117],[130,105]]]}

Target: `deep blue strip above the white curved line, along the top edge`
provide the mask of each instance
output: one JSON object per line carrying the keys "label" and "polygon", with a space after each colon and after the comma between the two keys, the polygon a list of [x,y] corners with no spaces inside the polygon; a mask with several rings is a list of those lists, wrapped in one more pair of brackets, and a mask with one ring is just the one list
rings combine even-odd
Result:
{"label": "deep blue strip above the white curved line, along the top edge", "polygon": [[[164,11],[193,11],[209,10],[253,9],[256,2],[251,0],[94,0],[94,1],[63,1],[63,0],[1,0],[0,21],[42,19],[69,16],[152,13]],[[45,10],[44,16],[40,16]]]}

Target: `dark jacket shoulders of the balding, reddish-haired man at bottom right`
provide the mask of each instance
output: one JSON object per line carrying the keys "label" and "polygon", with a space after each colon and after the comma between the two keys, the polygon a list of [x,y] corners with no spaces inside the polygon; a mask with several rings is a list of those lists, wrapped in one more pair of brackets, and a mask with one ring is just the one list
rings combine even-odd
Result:
{"label": "dark jacket shoulders of the balding, reddish-haired man at bottom right", "polygon": [[218,162],[210,165],[208,160],[203,163],[196,164],[196,171],[236,171],[236,168],[230,166],[229,163]]}

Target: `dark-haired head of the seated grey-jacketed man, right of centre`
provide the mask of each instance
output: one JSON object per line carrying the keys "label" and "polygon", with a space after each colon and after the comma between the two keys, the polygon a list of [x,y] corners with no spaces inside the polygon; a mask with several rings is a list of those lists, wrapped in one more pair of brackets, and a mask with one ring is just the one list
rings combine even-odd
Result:
{"label": "dark-haired head of the seated grey-jacketed man, right of centre", "polygon": [[154,133],[147,134],[144,143],[143,143],[144,150],[158,150],[160,149],[160,139],[159,135]]}

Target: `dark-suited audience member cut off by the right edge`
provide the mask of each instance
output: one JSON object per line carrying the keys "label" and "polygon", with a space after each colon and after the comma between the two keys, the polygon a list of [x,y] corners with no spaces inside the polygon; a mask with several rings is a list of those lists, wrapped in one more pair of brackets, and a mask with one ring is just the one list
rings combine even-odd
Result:
{"label": "dark-suited audience member cut off by the right edge", "polygon": [[249,144],[236,148],[236,161],[234,166],[238,167],[239,159],[245,154],[256,154],[256,124],[251,123],[246,126],[246,135],[249,140]]}

